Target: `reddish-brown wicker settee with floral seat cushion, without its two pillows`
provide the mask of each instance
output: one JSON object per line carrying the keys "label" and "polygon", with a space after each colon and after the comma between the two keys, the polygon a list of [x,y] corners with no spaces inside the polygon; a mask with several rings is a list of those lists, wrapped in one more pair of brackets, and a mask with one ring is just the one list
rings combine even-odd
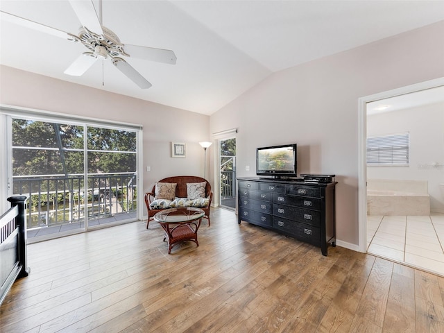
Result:
{"label": "reddish-brown wicker settee with floral seat cushion, without its two pillows", "polygon": [[[200,203],[205,203],[205,205],[194,205],[194,200],[186,200],[188,198],[187,196],[187,184],[196,184],[206,182],[205,184],[205,201],[200,200]],[[156,198],[156,185],[158,183],[168,183],[168,184],[177,184],[176,185],[176,194],[174,194],[174,197],[176,200],[163,200]],[[194,206],[199,207],[203,212],[205,212],[205,219],[208,220],[208,225],[210,226],[210,206],[213,199],[213,192],[211,189],[211,185],[205,178],[197,177],[197,176],[174,176],[174,177],[168,177],[164,178],[162,180],[159,180],[156,182],[156,184],[153,186],[153,189],[151,192],[147,192],[145,194],[145,205],[146,210],[148,210],[148,221],[146,221],[146,229],[148,229],[148,225],[150,221],[153,219],[153,216],[160,212],[161,210],[171,208],[171,207],[184,207],[183,204],[187,203],[188,206]],[[180,205],[176,205],[175,203],[180,201]],[[156,203],[157,201],[157,203]],[[169,203],[168,201],[171,201]],[[172,206],[171,206],[172,205]]]}

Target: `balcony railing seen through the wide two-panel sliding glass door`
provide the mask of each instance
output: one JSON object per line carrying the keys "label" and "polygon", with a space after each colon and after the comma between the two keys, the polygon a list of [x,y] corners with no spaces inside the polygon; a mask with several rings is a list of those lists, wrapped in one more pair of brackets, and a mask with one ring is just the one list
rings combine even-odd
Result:
{"label": "balcony railing seen through the wide two-panel sliding glass door", "polygon": [[42,228],[137,210],[135,173],[13,178],[14,193],[28,197],[26,228]]}

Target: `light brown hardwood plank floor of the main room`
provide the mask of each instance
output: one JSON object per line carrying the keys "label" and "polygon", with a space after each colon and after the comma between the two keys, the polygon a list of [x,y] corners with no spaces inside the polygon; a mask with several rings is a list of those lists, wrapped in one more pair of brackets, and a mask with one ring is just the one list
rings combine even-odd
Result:
{"label": "light brown hardwood plank floor of the main room", "polygon": [[28,246],[0,332],[444,332],[444,278],[212,210],[167,254],[130,223]]}

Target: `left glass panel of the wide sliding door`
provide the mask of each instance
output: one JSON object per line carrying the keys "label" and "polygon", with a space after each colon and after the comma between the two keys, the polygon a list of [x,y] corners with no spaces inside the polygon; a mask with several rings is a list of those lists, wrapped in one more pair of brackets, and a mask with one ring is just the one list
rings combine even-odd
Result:
{"label": "left glass panel of the wide sliding door", "polygon": [[12,194],[28,196],[28,237],[85,228],[84,127],[12,119]]}

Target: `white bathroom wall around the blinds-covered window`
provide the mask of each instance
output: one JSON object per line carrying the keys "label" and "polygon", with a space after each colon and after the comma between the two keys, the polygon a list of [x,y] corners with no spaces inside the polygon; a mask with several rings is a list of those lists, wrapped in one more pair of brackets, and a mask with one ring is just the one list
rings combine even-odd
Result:
{"label": "white bathroom wall around the blinds-covered window", "polygon": [[[367,167],[368,179],[427,180],[430,210],[444,212],[444,103],[367,117],[367,135],[410,135],[409,167]],[[434,167],[437,163],[438,167]]]}

